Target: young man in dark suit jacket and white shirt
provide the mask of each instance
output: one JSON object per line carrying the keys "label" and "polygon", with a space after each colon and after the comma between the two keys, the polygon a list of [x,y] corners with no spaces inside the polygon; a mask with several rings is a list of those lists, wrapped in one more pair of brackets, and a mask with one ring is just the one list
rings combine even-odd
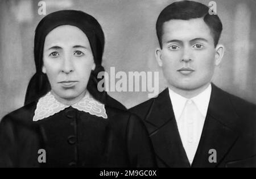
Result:
{"label": "young man in dark suit jacket and white shirt", "polygon": [[211,83],[224,46],[222,23],[193,1],[156,22],[156,60],[168,88],[130,109],[146,124],[159,167],[256,166],[256,107]]}

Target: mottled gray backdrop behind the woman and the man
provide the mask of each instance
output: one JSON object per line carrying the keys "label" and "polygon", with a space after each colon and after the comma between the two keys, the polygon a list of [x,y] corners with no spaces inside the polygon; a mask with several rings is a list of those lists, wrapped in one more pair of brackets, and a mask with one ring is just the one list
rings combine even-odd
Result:
{"label": "mottled gray backdrop behind the woman and the man", "polygon": [[[43,15],[38,2],[0,0],[0,119],[23,106],[28,81],[35,73],[34,30]],[[93,15],[106,37],[103,65],[116,71],[159,71],[160,91],[166,86],[155,62],[156,19],[170,0],[63,0],[46,2],[46,13],[76,9]],[[208,5],[210,1],[199,1]],[[229,93],[256,103],[256,1],[215,1],[224,25],[220,43],[226,47],[213,82]],[[110,92],[126,107],[148,99],[147,92]]]}

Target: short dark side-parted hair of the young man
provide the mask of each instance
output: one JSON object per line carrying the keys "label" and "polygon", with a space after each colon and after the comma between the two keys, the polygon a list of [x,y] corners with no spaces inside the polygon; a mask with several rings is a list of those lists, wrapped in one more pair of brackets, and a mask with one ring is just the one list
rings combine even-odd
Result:
{"label": "short dark side-parted hair of the young man", "polygon": [[214,46],[218,44],[222,31],[222,23],[218,15],[210,15],[209,7],[195,1],[174,2],[162,10],[156,21],[156,34],[162,48],[163,24],[172,19],[189,20],[203,18],[213,35]]}

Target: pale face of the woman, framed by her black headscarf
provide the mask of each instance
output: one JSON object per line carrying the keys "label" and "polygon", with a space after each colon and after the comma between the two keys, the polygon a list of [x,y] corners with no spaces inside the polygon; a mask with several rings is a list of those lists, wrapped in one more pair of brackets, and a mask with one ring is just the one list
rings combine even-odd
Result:
{"label": "pale face of the woman, framed by her black headscarf", "polygon": [[89,40],[80,28],[59,26],[46,36],[42,71],[60,102],[72,105],[84,97],[94,68]]}

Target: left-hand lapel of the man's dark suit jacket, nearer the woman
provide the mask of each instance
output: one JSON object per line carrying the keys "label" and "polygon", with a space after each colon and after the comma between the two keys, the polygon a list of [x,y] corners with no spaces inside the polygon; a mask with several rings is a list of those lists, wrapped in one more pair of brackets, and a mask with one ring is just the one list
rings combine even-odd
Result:
{"label": "left-hand lapel of the man's dark suit jacket, nearer the woman", "polygon": [[168,167],[189,167],[168,88],[160,93],[158,98],[153,99],[145,121],[159,160]]}

